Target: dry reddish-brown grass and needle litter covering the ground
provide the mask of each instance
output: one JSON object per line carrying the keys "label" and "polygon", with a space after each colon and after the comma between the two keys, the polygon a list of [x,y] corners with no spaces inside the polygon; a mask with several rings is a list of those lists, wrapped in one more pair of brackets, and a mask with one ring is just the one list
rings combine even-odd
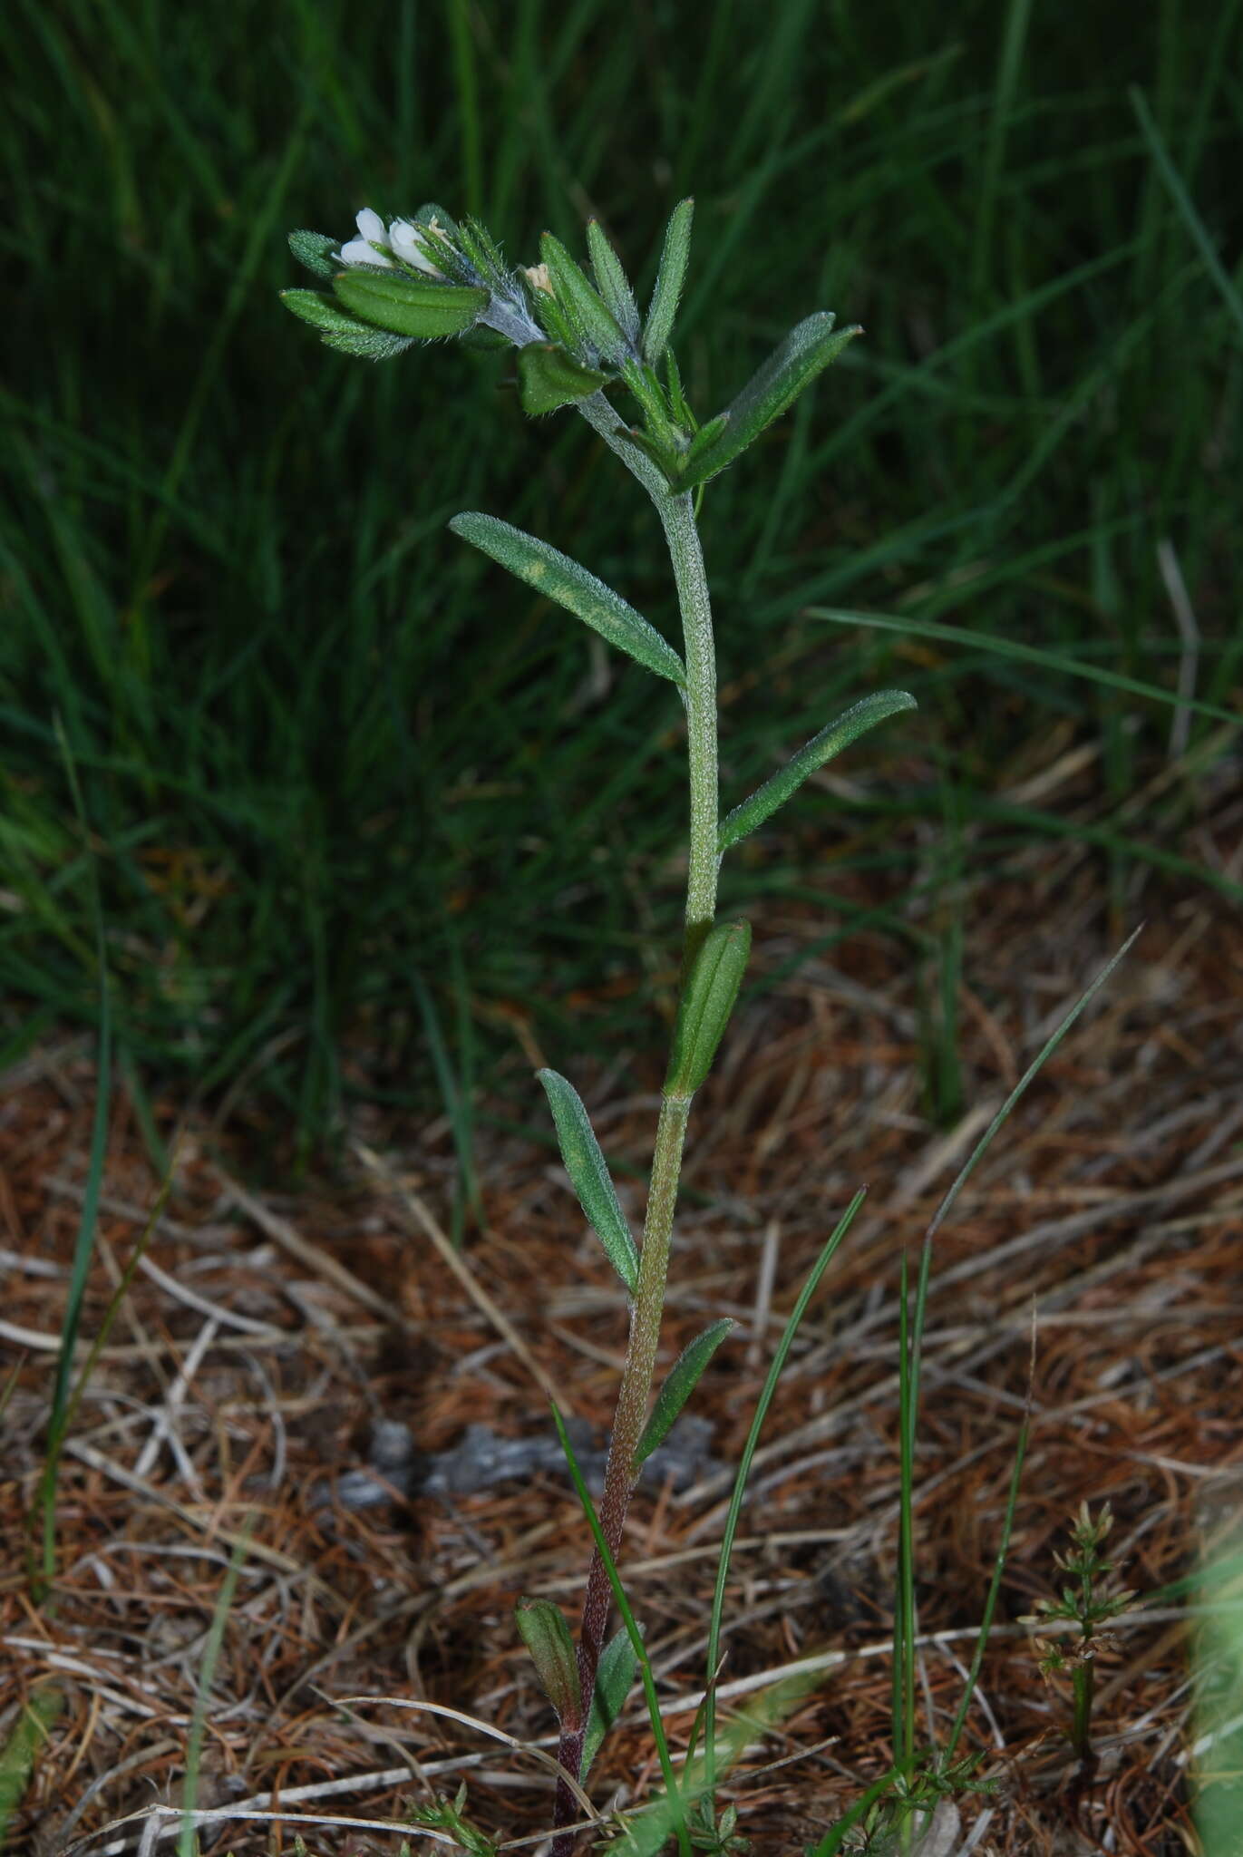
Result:
{"label": "dry reddish-brown grass and needle litter covering the ground", "polygon": [[[1197,854],[1239,878],[1237,795],[1223,799]],[[1098,871],[1065,845],[1009,888],[966,899],[962,1058],[975,1107],[961,1127],[927,1123],[910,973],[868,934],[834,967],[814,964],[743,1014],[697,1105],[667,1348],[704,1317],[741,1324],[693,1408],[713,1422],[717,1463],[738,1454],[771,1344],[834,1214],[857,1183],[871,1183],[779,1393],[734,1560],[726,1707],[823,1658],[814,1690],[756,1736],[743,1762],[752,1772],[726,1788],[756,1850],[801,1850],[884,1762],[897,1255],[922,1237],[981,1118],[1107,954],[1115,925],[1102,923],[1098,897]],[[1156,886],[1141,912],[1150,923],[1135,956],[1024,1099],[938,1240],[918,1554],[925,1707],[942,1731],[996,1552],[1033,1302],[1039,1311],[1031,1454],[970,1721],[1000,1781],[996,1798],[964,1803],[966,1825],[990,1814],[981,1851],[1195,1850],[1185,1608],[1120,1621],[1100,1682],[1100,1777],[1078,1829],[1057,1733],[1068,1701],[1046,1688],[1016,1623],[1050,1591],[1053,1549],[1081,1499],[1109,1499],[1120,1577],[1150,1593],[1193,1569],[1243,1478],[1237,925],[1208,895]],[[821,927],[810,908],[760,919],[754,971]],[[572,1068],[572,1053],[544,1055]],[[359,1116],[351,1177],[297,1200],[255,1198],[236,1183],[243,1144],[223,1159],[191,1131],[67,1447],[59,1578],[37,1610],[20,1564],[22,1512],[85,1177],[89,1049],[46,1047],[7,1084],[0,1343],[22,1365],[0,1486],[0,1725],[7,1733],[37,1684],[65,1695],[11,1848],[104,1857],[137,1850],[143,1835],[143,1850],[173,1848],[175,1818],[102,1827],[180,1799],[204,1640],[247,1525],[199,1788],[201,1807],[230,1816],[204,1829],[204,1850],[290,1851],[301,1829],[314,1853],[394,1851],[392,1835],[366,1825],[399,1818],[429,1788],[451,1792],[459,1777],[483,1827],[537,1838],[550,1822],[548,1772],[453,1720],[396,1705],[455,1705],[552,1746],[509,1606],[518,1591],[574,1606],[587,1530],[567,1478],[535,1473],[476,1495],[394,1489],[392,1502],[364,1510],[340,1500],[338,1478],[364,1463],[377,1419],[409,1426],[429,1456],[468,1424],[544,1434],[550,1389],[591,1426],[608,1424],[624,1307],[548,1155],[485,1140],[489,1226],[470,1235],[455,1272],[429,1235],[453,1164],[444,1125]],[[617,1101],[608,1079],[583,1096],[593,1110],[608,1105],[596,1120],[606,1149],[645,1162],[654,1099]],[[531,1118],[541,1109],[535,1092]],[[175,1118],[165,1103],[165,1127]],[[377,1175],[359,1144],[390,1172]],[[87,1337],[152,1198],[117,1096]],[[639,1213],[635,1188],[628,1209]],[[626,1577],[674,1746],[702,1684],[726,1474],[645,1491],[628,1525]],[[392,1703],[333,1701],[353,1695]],[[593,1794],[602,1805],[637,1799],[654,1777],[635,1705],[606,1742]]]}

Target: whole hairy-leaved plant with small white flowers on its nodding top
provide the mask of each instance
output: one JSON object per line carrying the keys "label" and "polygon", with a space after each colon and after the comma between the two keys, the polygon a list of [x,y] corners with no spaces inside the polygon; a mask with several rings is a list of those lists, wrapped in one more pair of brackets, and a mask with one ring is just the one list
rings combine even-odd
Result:
{"label": "whole hairy-leaved plant with small white flowers on its nodding top", "polygon": [[[860,331],[838,331],[832,314],[823,310],[808,316],[734,401],[700,423],[687,403],[671,347],[691,215],[693,202],[682,201],[669,219],[647,316],[639,314],[621,260],[595,221],[587,227],[587,267],[546,232],[539,264],[515,269],[479,221],[457,225],[435,204],[388,225],[366,208],[357,219],[357,238],[342,245],[325,234],[294,232],[294,254],[327,290],[284,292],[284,303],[295,316],[310,323],[329,347],[349,355],[381,360],[414,342],[446,336],[513,345],[524,410],[548,414],[576,407],[643,485],[663,526],[678,592],[680,652],[622,594],[550,542],[481,513],[459,514],[450,524],[463,540],[567,607],[645,670],[673,683],[686,711],[687,734],[689,860],[682,984],[641,1242],[635,1242],[621,1209],[582,1097],[556,1070],[539,1071],[565,1170],[630,1298],[630,1343],[604,1497],[598,1519],[593,1515],[596,1551],[578,1643],[561,1608],[550,1601],[524,1599],[517,1608],[518,1630],[561,1723],[557,1827],[574,1820],[576,1790],[641,1662],[641,1642],[635,1642],[628,1614],[622,1630],[608,1640],[615,1556],[639,1469],[669,1434],[732,1328],[728,1318],[706,1328],[684,1350],[652,1402],[682,1144],[691,1101],[734,1010],[751,945],[745,921],[717,921],[721,860],[818,767],[873,724],[914,708],[905,691],[862,698],[721,819],[715,650],[697,529],[699,501],[704,485],[738,462]],[[628,396],[624,416],[609,394]],[[712,1708],[706,1746],[712,1760]],[[669,1790],[673,1796],[674,1788]],[[710,1824],[708,1816],[706,1825],[693,1833],[697,1844],[702,1844]],[[674,1827],[689,1851],[691,1827],[684,1818]],[[719,1829],[725,1837],[721,1848],[726,1848],[732,1822]],[[557,1857],[565,1857],[570,1844],[572,1835],[561,1829]]]}

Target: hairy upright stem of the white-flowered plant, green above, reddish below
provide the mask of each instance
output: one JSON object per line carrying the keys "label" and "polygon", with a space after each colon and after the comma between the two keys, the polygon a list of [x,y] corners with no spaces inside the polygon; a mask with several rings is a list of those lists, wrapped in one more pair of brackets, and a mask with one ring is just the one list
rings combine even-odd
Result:
{"label": "hairy upright stem of the white-flowered plant, green above, reddish below", "polygon": [[[704,555],[695,526],[693,496],[674,496],[660,470],[635,446],[626,444],[622,422],[604,394],[593,394],[578,403],[589,425],[604,438],[611,451],[622,461],[626,470],[637,477],[652,498],[660,514],[673,576],[682,611],[682,639],[686,648],[686,724],[687,724],[687,773],[689,773],[689,812],[691,841],[686,882],[686,932],[682,941],[682,982],[699,951],[702,938],[712,927],[717,904],[717,669],[712,637],[712,605],[708,598],[708,579],[704,574]],[[639,1279],[630,1305],[630,1341],[626,1346],[626,1365],[622,1369],[617,1395],[617,1413],[609,1437],[608,1465],[604,1471],[604,1497],[600,1500],[600,1530],[608,1541],[609,1554],[617,1560],[621,1551],[626,1510],[637,1482],[635,1448],[643,1434],[643,1422],[652,1398],[652,1378],[656,1372],[656,1350],[660,1346],[660,1324],[665,1307],[665,1279],[669,1274],[669,1244],[673,1239],[673,1214],[678,1200],[678,1177],[682,1172],[682,1142],[691,1112],[691,1097],[665,1094],[660,1105],[656,1125],[656,1148],[652,1153],[652,1177],[648,1185],[647,1218],[643,1222],[643,1250],[639,1253]],[[608,1629],[611,1588],[604,1558],[596,1551],[587,1573],[587,1593],[583,1599],[583,1617],[578,1636],[578,1681],[583,1697],[583,1720],[572,1727],[563,1727],[557,1760],[574,1779],[580,1777],[583,1757],[583,1736],[587,1731],[587,1710],[595,1692],[596,1666],[604,1649]],[[576,1814],[574,1794],[569,1786],[557,1786],[556,1824],[565,1825]],[[569,1857],[572,1837],[567,1833],[554,1842],[554,1857]]]}

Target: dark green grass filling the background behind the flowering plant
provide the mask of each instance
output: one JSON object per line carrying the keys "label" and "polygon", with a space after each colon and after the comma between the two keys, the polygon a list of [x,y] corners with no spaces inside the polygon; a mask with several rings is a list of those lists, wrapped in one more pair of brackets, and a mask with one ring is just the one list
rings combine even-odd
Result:
{"label": "dark green grass filling the background behind the flowering plant", "polygon": [[[704,501],[723,800],[894,669],[927,748],[870,750],[847,843],[832,791],[808,799],[806,839],[739,862],[725,910],[808,882],[832,908],[836,878],[875,867],[907,934],[927,871],[890,841],[892,782],[935,819],[951,784],[974,869],[1000,878],[1079,830],[1005,799],[1014,745],[1046,737],[1098,748],[1115,901],[1202,880],[1174,847],[1243,652],[1241,9],[1029,11],[792,0],[771,24],[723,0],[687,35],[600,0],[297,0],[279,24],[242,0],[20,0],[0,126],[9,1057],[98,1021],[93,871],[139,1099],[177,1079],[243,1109],[273,1159],[290,1129],[305,1159],[359,1096],[442,1103],[459,1229],[476,1088],[533,1122],[531,1047],[654,1042],[671,977],[639,949],[674,936],[676,713],[444,524],[504,511],[667,624],[658,544],[580,422],[533,442],[504,364],[444,351],[446,390],[427,360],[360,368],[288,327],[282,228],[344,230],[364,201],[478,204],[522,256],[598,212],[650,286],[643,254],[693,191],[680,360],[700,412],[780,334],[775,305],[866,325],[771,462]],[[1163,539],[1204,708],[1163,810],[1130,821],[1185,650]],[[840,633],[808,605],[903,630]],[[650,904],[567,875],[622,841],[656,871]],[[955,938],[933,938],[936,971]],[[951,1018],[929,1014],[925,1051],[946,1112]]]}

